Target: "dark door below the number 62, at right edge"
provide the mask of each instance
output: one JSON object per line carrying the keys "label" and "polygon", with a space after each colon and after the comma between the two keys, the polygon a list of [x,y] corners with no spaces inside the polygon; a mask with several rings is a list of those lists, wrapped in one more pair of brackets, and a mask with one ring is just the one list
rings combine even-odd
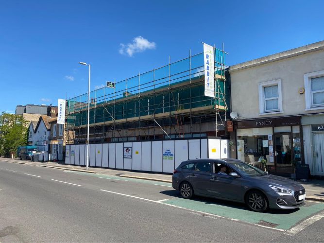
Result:
{"label": "dark door below the number 62, at right edge", "polygon": [[324,133],[313,133],[313,161],[315,175],[324,175]]}

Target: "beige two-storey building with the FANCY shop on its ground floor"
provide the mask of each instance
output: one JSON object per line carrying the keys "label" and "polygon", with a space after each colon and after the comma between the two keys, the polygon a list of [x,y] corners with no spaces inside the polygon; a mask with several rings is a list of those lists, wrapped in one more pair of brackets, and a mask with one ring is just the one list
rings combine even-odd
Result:
{"label": "beige two-storey building with the FANCY shop on its ground floor", "polygon": [[[233,153],[269,171],[324,175],[324,41],[230,67]],[[233,146],[234,147],[234,146]],[[322,152],[323,151],[323,152]]]}

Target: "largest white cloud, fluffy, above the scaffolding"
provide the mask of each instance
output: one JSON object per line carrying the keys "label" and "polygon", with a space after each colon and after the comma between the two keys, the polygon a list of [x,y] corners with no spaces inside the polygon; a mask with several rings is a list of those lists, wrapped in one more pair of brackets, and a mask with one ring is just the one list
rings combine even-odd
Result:
{"label": "largest white cloud, fluffy, above the scaffolding", "polygon": [[155,49],[155,42],[150,42],[142,36],[137,36],[133,39],[133,43],[120,43],[119,53],[123,55],[133,56],[136,52],[144,52],[146,49]]}

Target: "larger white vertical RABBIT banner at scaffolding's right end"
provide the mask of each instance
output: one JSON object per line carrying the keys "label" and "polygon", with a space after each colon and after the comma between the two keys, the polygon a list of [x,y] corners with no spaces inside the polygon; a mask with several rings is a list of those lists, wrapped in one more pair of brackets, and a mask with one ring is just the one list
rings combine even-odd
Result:
{"label": "larger white vertical RABBIT banner at scaffolding's right end", "polygon": [[205,96],[215,98],[214,47],[204,43]]}

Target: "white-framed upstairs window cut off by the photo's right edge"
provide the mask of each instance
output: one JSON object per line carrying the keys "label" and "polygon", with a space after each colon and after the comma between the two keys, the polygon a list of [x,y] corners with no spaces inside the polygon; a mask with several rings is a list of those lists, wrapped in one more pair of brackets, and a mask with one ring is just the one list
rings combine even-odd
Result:
{"label": "white-framed upstairs window cut off by the photo's right edge", "polygon": [[324,109],[324,70],[304,74],[306,110]]}

